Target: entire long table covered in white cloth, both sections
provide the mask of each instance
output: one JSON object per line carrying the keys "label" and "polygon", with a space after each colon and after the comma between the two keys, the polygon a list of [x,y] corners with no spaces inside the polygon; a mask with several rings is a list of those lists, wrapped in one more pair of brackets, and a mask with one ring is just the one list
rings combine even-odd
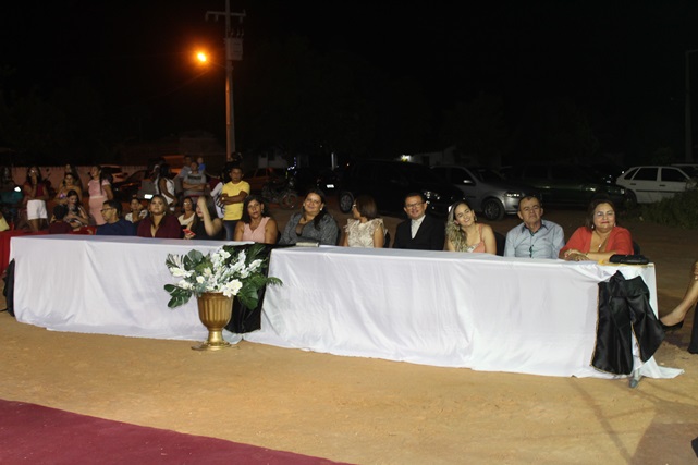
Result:
{"label": "entire long table covered in white cloth, both sections", "polygon": [[[12,238],[19,321],[59,331],[203,340],[195,299],[170,309],[168,254],[209,241]],[[608,377],[590,367],[597,284],[654,268],[483,254],[284,248],[271,254],[262,328],[250,342],[477,370]],[[639,366],[639,364],[638,364]],[[642,375],[670,377],[653,359]]]}

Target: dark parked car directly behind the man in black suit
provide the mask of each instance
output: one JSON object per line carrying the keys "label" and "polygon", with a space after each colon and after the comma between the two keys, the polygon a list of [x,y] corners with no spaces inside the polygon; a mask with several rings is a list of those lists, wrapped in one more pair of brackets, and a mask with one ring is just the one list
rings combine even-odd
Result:
{"label": "dark parked car directly behind the man in black suit", "polygon": [[428,167],[393,160],[356,160],[343,172],[339,195],[340,210],[348,213],[354,199],[368,194],[383,212],[403,212],[405,195],[420,192],[428,210],[444,216],[463,193],[434,174]]}

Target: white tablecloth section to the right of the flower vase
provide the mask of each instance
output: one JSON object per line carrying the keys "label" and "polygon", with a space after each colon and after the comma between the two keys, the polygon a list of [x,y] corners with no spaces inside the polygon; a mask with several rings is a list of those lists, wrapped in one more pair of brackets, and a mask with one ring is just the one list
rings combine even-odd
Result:
{"label": "white tablecloth section to the right of the flower vase", "polygon": [[[598,283],[653,266],[342,247],[272,253],[262,328],[248,341],[476,370],[597,376]],[[638,360],[639,362],[639,360]],[[644,376],[669,377],[653,359]]]}

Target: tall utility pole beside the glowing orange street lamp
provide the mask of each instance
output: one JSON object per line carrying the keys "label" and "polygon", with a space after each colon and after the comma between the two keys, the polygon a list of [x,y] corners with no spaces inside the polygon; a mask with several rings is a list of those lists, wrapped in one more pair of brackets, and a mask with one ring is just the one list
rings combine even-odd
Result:
{"label": "tall utility pole beside the glowing orange street lamp", "polygon": [[[235,112],[233,106],[233,61],[243,59],[243,19],[247,16],[245,11],[242,13],[232,13],[230,11],[230,0],[225,0],[225,11],[207,11],[208,16],[213,16],[216,21],[220,16],[225,17],[225,157],[235,152]],[[237,19],[237,24],[231,25],[232,19]]]}

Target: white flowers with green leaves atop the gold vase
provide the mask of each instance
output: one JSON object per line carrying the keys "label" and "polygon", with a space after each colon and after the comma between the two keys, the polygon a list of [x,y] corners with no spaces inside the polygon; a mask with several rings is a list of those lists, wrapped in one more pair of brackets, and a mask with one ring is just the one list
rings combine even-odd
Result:
{"label": "white flowers with green leaves atop the gold vase", "polygon": [[281,280],[266,276],[269,257],[262,255],[265,245],[223,245],[207,255],[191,250],[186,255],[169,254],[166,265],[170,273],[181,278],[176,284],[166,284],[172,298],[168,307],[186,304],[192,295],[222,292],[226,297],[237,296],[248,308],[256,308],[258,292],[267,284],[281,284]]}

